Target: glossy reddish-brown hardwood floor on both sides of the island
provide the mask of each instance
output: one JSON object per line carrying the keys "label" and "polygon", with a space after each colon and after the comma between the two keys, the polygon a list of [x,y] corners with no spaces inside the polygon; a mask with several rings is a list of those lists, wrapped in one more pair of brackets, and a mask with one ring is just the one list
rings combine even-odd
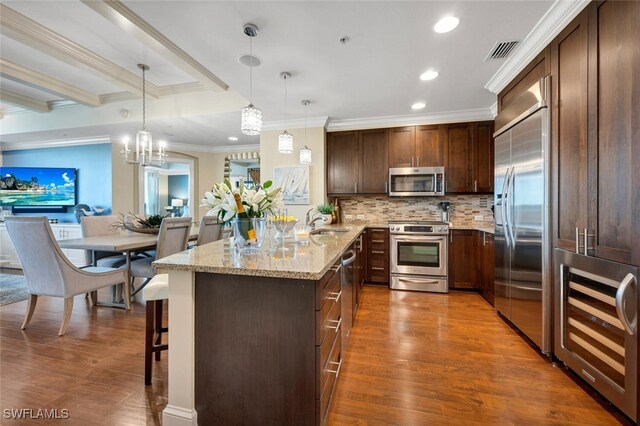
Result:
{"label": "glossy reddish-brown hardwood floor on both sides of the island", "polygon": [[[62,299],[0,308],[0,411],[69,410],[58,424],[160,424],[167,355],[144,386],[144,305],[89,308],[77,297],[64,337]],[[329,423],[619,424],[477,294],[366,287]],[[2,424],[24,421],[1,420]],[[56,424],[38,420],[37,424]]]}

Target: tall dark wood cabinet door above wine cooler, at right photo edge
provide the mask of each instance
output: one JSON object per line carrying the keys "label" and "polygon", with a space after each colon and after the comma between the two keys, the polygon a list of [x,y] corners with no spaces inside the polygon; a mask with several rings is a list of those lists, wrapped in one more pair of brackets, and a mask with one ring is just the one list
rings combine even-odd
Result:
{"label": "tall dark wood cabinet door above wine cooler, at right photo edge", "polygon": [[640,2],[589,14],[589,254],[640,265]]}

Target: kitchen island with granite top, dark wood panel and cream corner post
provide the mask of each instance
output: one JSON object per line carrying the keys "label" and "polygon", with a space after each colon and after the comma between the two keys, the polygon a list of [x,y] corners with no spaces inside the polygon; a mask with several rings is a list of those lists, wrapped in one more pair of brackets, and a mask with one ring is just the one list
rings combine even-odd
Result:
{"label": "kitchen island with granite top, dark wood panel and cream corner post", "polygon": [[164,425],[323,424],[341,360],[342,256],[364,230],[309,245],[230,240],[160,259],[169,273]]}

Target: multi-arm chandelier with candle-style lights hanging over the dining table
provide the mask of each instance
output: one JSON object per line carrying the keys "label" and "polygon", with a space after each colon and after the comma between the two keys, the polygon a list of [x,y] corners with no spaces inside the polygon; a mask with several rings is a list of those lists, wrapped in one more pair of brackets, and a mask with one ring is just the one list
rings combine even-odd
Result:
{"label": "multi-arm chandelier with candle-style lights hanging over the dining table", "polygon": [[129,149],[129,137],[122,139],[122,150],[120,155],[125,164],[139,164],[141,166],[161,165],[164,164],[167,154],[165,154],[165,143],[161,141],[158,144],[158,151],[153,152],[153,137],[151,132],[147,130],[146,120],[146,75],[149,66],[138,64],[138,68],[142,70],[142,128],[136,133],[136,150],[135,154]]}

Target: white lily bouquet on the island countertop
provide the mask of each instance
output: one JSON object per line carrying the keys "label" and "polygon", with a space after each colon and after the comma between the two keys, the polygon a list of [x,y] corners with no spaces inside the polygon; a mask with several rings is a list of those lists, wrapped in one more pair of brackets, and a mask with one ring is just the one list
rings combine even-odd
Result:
{"label": "white lily bouquet on the island countertop", "polygon": [[200,207],[209,207],[207,216],[216,216],[218,222],[229,223],[238,213],[234,194],[240,194],[244,210],[251,218],[267,217],[284,208],[282,189],[271,188],[272,182],[266,181],[258,190],[247,189],[244,182],[239,188],[233,188],[229,179],[213,185],[211,192],[205,192]]}

